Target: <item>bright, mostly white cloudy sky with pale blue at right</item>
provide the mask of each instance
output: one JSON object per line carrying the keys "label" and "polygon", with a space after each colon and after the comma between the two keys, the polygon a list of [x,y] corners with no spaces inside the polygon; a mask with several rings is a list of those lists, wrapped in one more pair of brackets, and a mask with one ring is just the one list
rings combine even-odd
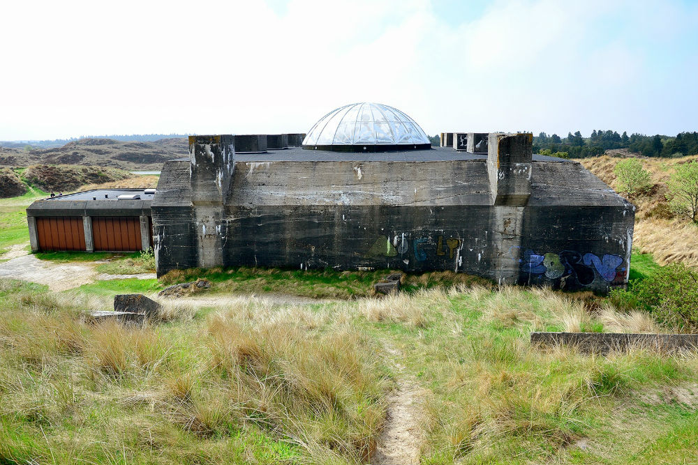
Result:
{"label": "bright, mostly white cloudy sky with pale blue at right", "polygon": [[3,1],[0,139],[698,130],[698,1]]}

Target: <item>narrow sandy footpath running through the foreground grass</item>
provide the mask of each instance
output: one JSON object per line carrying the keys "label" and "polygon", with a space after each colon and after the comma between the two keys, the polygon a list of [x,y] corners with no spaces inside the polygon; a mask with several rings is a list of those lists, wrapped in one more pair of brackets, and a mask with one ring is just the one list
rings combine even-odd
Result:
{"label": "narrow sandy footpath running through the foreground grass", "polygon": [[[402,356],[395,349],[386,349],[396,360]],[[405,367],[394,362],[399,373],[397,389],[388,397],[388,411],[383,432],[378,438],[378,446],[371,456],[371,464],[412,465],[419,464],[422,447],[423,416],[421,399],[424,390],[404,374]]]}

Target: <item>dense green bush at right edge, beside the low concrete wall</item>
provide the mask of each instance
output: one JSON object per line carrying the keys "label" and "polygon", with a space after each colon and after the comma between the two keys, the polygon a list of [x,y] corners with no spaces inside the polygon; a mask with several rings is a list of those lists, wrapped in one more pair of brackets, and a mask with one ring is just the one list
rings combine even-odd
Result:
{"label": "dense green bush at right edge, beside the low concrete wall", "polygon": [[698,330],[698,272],[683,264],[662,266],[628,291],[611,291],[615,305],[644,308],[660,323],[681,331]]}

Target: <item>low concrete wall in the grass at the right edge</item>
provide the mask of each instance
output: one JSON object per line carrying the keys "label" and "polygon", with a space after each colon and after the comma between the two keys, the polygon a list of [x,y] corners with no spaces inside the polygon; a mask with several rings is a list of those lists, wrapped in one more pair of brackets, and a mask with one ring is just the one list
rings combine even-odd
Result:
{"label": "low concrete wall in the grass at the right edge", "polygon": [[696,350],[698,334],[530,333],[530,343],[540,346],[570,345],[590,353],[634,347],[662,351]]}

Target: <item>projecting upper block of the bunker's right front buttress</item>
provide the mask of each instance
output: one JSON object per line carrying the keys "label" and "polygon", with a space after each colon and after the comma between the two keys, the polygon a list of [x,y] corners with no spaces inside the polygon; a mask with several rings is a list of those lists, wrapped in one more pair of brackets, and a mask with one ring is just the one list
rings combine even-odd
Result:
{"label": "projecting upper block of the bunker's right front buttress", "polygon": [[487,174],[494,205],[528,203],[532,157],[532,134],[489,135]]}

